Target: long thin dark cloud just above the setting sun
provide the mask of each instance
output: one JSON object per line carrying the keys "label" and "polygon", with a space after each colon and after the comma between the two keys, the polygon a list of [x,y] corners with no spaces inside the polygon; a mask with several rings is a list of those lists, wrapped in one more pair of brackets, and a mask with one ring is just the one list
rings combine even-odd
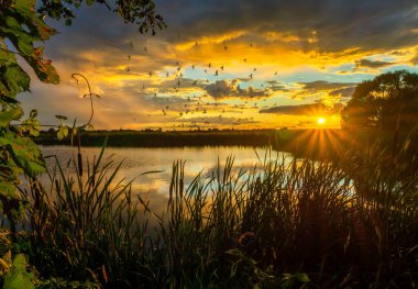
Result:
{"label": "long thin dark cloud just above the setting sun", "polygon": [[293,114],[293,115],[312,115],[316,113],[321,114],[336,114],[341,111],[343,104],[337,103],[330,108],[323,103],[308,103],[299,105],[279,105],[268,109],[260,110],[260,113],[277,113],[277,114]]}

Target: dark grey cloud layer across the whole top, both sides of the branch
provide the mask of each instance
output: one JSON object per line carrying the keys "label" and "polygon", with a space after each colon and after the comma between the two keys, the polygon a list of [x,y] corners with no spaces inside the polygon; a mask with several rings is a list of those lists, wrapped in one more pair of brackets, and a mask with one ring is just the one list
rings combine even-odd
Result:
{"label": "dark grey cloud layer across the whole top, both sides of the branch", "polygon": [[[157,0],[156,7],[168,24],[156,38],[170,43],[235,31],[246,32],[239,40],[261,45],[263,40],[272,42],[263,36],[268,35],[266,32],[293,35],[299,40],[292,42],[295,48],[321,52],[392,49],[417,43],[414,29],[418,26],[418,4],[413,0]],[[143,47],[150,37],[141,36],[135,25],[123,23],[102,4],[79,9],[69,27],[62,22],[48,23],[62,34],[52,38],[53,48],[47,49],[54,58],[102,47],[146,54]],[[92,29],[98,23],[106,23],[106,29]],[[274,41],[286,42],[286,37]]]}

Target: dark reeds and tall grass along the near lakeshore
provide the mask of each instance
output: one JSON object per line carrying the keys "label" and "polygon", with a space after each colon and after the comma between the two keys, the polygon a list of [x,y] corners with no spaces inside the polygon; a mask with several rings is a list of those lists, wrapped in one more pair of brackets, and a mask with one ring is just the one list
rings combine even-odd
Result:
{"label": "dark reeds and tall grass along the near lakeshore", "polygon": [[230,157],[188,185],[176,162],[164,213],[103,151],[87,177],[57,163],[48,189],[31,182],[31,264],[107,288],[414,288],[418,174],[403,157],[265,155],[250,171]]}

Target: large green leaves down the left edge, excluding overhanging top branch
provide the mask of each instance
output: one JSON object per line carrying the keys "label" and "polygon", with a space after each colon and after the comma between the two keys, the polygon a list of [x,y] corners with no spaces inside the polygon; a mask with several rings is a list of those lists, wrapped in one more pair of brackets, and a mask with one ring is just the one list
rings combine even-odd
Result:
{"label": "large green leaves down the left edge, excluding overhanging top branch", "polygon": [[[36,112],[32,111],[21,127],[12,124],[23,115],[16,95],[30,90],[30,77],[19,65],[16,54],[23,57],[42,81],[59,81],[51,60],[43,58],[43,48],[34,46],[34,42],[47,41],[55,33],[38,19],[34,8],[34,0],[13,1],[1,10],[0,18],[0,213],[9,218],[19,210],[15,191],[19,174],[34,177],[45,171],[41,152],[30,137],[38,134]],[[16,52],[8,47],[6,40]]]}

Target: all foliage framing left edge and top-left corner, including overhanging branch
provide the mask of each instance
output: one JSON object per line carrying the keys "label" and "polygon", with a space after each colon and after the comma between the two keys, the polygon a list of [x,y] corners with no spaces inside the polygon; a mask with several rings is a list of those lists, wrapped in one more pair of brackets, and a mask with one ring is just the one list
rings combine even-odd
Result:
{"label": "all foliage framing left edge and top-left corner, including overhanging branch", "polygon": [[[107,4],[101,0],[87,0],[86,4],[91,5],[94,2]],[[45,171],[41,152],[32,141],[32,137],[40,134],[37,112],[31,111],[30,116],[19,124],[23,110],[16,95],[30,91],[30,77],[18,63],[16,56],[29,64],[41,81],[58,84],[59,77],[51,60],[43,57],[43,47],[35,46],[34,43],[43,43],[56,33],[43,21],[45,15],[66,19],[66,23],[70,24],[70,19],[75,16],[74,9],[81,3],[82,0],[0,2],[0,214],[8,218],[14,219],[21,211],[22,202],[15,189],[20,182],[19,174],[34,177]],[[138,24],[141,33],[150,30],[155,33],[155,26],[165,26],[161,15],[156,14],[152,0],[120,0],[116,4],[113,10],[125,22]],[[76,130],[72,132],[76,133]],[[58,138],[64,138],[67,134],[68,126],[62,123]]]}

